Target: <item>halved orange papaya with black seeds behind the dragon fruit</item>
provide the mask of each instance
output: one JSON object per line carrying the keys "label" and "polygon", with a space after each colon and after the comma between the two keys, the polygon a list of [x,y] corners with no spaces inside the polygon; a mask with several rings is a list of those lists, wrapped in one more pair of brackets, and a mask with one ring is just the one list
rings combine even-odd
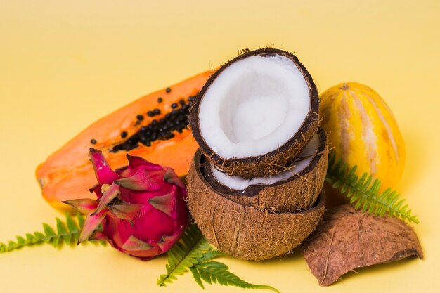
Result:
{"label": "halved orange papaya with black seeds behind the dragon fruit", "polygon": [[127,152],[187,174],[198,148],[186,115],[191,101],[211,72],[203,72],[167,89],[150,93],[112,112],[89,127],[37,167],[37,181],[44,199],[53,207],[71,211],[64,200],[96,198],[89,149],[103,151],[110,167],[127,165]]}

